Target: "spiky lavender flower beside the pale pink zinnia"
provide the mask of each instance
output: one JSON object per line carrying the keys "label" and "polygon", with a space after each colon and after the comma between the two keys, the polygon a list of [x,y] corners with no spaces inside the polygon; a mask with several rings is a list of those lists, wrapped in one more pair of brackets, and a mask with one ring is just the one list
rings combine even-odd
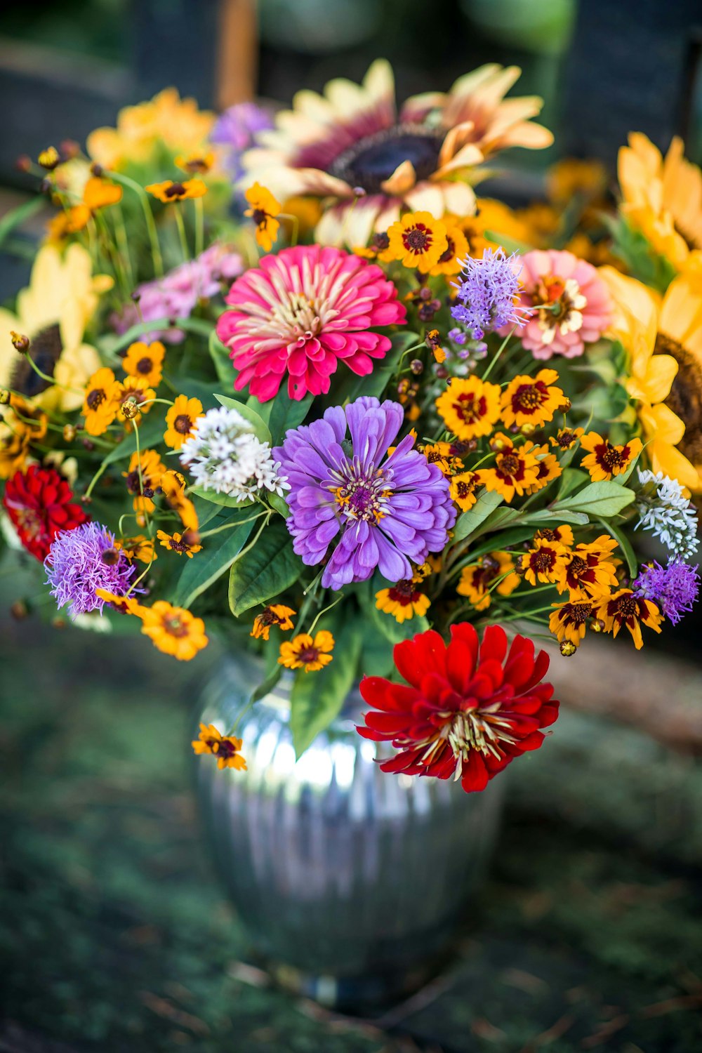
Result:
{"label": "spiky lavender flower beside the pale pink zinnia", "polygon": [[482,259],[467,257],[458,282],[452,317],[470,331],[474,340],[482,340],[508,324],[522,324],[523,312],[515,304],[519,295],[522,265],[517,253],[505,256],[504,249],[483,250]]}

